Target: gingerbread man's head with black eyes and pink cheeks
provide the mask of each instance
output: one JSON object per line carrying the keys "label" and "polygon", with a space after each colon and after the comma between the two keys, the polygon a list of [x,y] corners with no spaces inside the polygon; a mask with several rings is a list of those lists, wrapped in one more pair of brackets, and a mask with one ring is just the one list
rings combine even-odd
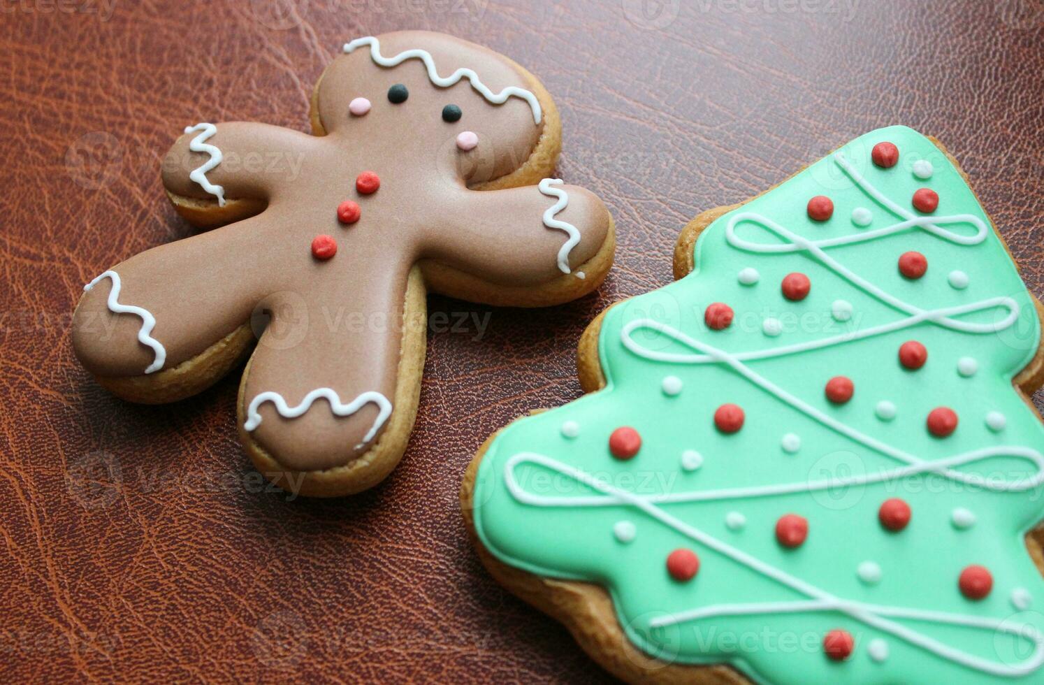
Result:
{"label": "gingerbread man's head with black eyes and pink cheeks", "polygon": [[323,74],[313,123],[375,155],[408,149],[412,166],[475,184],[526,163],[553,108],[543,94],[533,76],[492,50],[400,31],[345,45]]}

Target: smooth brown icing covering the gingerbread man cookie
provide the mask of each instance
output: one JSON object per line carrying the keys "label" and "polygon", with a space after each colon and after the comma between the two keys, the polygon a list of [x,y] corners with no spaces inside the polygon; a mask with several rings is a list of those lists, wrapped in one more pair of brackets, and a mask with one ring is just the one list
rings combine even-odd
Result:
{"label": "smooth brown icing covering the gingerbread man cookie", "polygon": [[[404,31],[379,37],[385,56],[421,48],[434,57],[440,75],[459,67],[478,72],[494,92],[528,88],[509,62],[485,48],[447,36]],[[403,84],[401,104],[387,91]],[[365,97],[372,110],[349,113]],[[324,73],[318,115],[327,136],[313,137],[266,124],[217,124],[207,144],[222,162],[207,179],[227,198],[268,203],[257,216],[161,245],[113,267],[122,282],[121,304],[156,317],[152,336],[166,350],[164,369],[191,359],[251,320],[268,311],[246,380],[245,402],[274,391],[295,406],[309,392],[331,387],[341,402],[376,391],[395,399],[406,277],[419,260],[434,260],[483,281],[533,286],[563,276],[556,264],[567,235],[547,228],[544,212],[556,199],[535,186],[474,191],[468,184],[496,179],[526,162],[543,133],[529,104],[509,98],[493,104],[467,79],[438,88],[420,60],[385,68],[369,49],[341,54]],[[459,121],[447,123],[443,107],[459,105]],[[478,134],[478,146],[460,151],[458,133]],[[182,136],[163,165],[173,194],[213,199],[189,172],[210,157],[189,150],[196,133]],[[355,179],[375,171],[380,189],[360,195]],[[593,257],[607,237],[609,216],[593,194],[562,187],[569,205],[556,218],[575,226],[580,242],[572,267]],[[337,205],[357,202],[362,215],[352,226],[337,221]],[[329,261],[314,259],[312,239],[337,241]],[[99,376],[138,376],[152,350],[138,341],[141,318],[109,311],[111,282],[85,293],[73,322],[73,344],[84,365]],[[260,331],[258,331],[260,332]],[[298,470],[346,464],[364,452],[377,418],[367,404],[350,417],[317,400],[304,416],[281,417],[272,404],[259,409],[252,435],[281,463]]]}

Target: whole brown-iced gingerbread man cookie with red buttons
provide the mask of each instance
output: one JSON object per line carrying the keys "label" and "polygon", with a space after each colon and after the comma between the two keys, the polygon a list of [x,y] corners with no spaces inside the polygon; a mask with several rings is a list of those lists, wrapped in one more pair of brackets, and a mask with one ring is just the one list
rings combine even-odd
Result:
{"label": "whole brown-iced gingerbread man cookie with red buttons", "polygon": [[149,403],[198,393],[254,348],[243,445],[278,485],[326,496],[377,483],[405,450],[427,290],[573,300],[601,283],[614,232],[597,197],[549,178],[561,124],[547,91],[480,46],[425,31],[352,41],[310,120],[311,136],[186,128],[164,160],[167,193],[191,222],[229,226],[102,273],[72,339],[102,385]]}

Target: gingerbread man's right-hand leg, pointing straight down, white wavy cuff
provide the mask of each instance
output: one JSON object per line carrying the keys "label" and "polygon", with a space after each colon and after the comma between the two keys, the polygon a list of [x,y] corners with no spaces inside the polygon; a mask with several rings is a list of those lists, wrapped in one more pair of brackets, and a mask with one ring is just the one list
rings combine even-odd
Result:
{"label": "gingerbread man's right-hand leg, pointing straight down, white wavy cuff", "polygon": [[[403,279],[399,302],[346,287],[340,299],[296,310],[275,303],[243,373],[238,415],[247,454],[276,485],[346,495],[399,463],[417,414],[426,322],[420,269]],[[296,315],[281,318],[281,308]]]}

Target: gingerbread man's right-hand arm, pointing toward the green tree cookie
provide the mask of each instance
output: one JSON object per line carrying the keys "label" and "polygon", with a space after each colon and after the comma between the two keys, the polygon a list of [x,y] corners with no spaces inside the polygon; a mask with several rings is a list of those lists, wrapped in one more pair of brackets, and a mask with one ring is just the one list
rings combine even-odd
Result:
{"label": "gingerbread man's right-hand arm, pointing toward the green tree cookie", "polygon": [[[584,188],[548,179],[539,187],[461,191],[452,204],[446,212],[458,217],[455,225],[429,234],[425,257],[477,282],[539,290],[562,279],[600,281],[612,264],[612,218]],[[473,299],[452,287],[448,294]]]}

